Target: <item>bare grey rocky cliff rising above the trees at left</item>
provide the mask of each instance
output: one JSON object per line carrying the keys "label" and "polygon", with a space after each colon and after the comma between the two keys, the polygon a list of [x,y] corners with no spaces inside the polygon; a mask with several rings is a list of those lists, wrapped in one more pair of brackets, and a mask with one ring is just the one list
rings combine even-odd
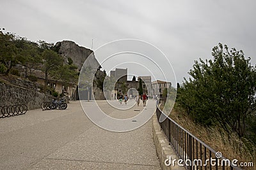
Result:
{"label": "bare grey rocky cliff rising above the trees at left", "polygon": [[84,64],[84,61],[88,58],[90,54],[93,56],[93,66],[98,67],[99,62],[95,59],[94,53],[92,50],[85,48],[83,46],[79,46],[73,41],[61,41],[56,43],[56,48],[58,49],[58,53],[63,56],[65,62],[68,62],[68,57],[73,60],[73,64],[75,64],[80,70]]}

